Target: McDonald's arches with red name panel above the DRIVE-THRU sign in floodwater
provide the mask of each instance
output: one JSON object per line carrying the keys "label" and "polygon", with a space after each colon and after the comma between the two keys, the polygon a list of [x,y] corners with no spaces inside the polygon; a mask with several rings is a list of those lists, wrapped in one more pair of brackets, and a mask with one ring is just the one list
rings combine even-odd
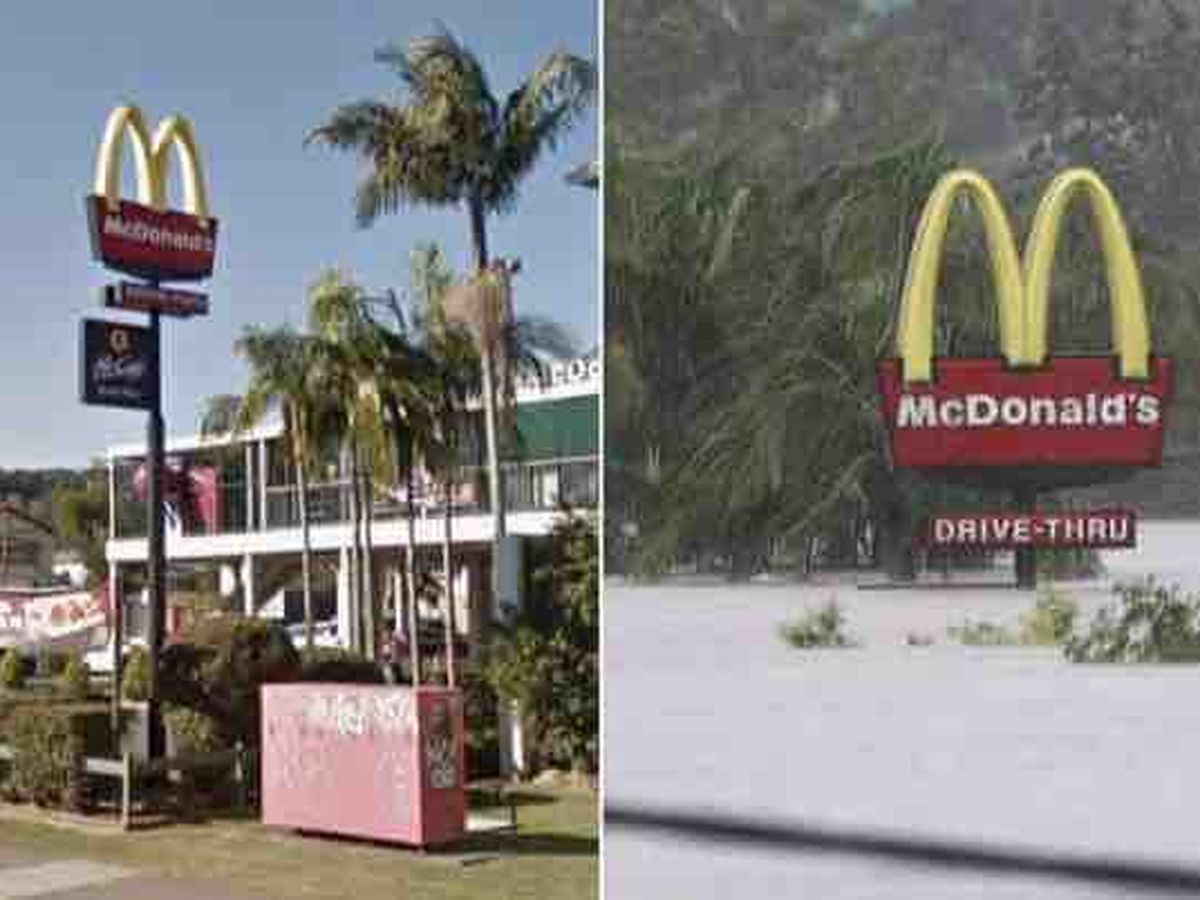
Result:
{"label": "McDonald's arches with red name panel above the DRIVE-THRU sign in floodwater", "polygon": [[[1000,355],[934,356],[934,306],[947,222],[965,194],[983,220],[1000,306]],[[1052,356],[1050,281],[1063,216],[1090,202],[1112,316],[1111,356]],[[1162,460],[1170,360],[1151,353],[1138,263],[1121,211],[1088,169],[1061,173],[1033,217],[1021,260],[1008,215],[979,174],[937,184],[920,217],[900,305],[896,358],[877,367],[896,466],[968,475],[997,468],[1045,485],[1085,482]],[[1016,470],[1020,470],[1018,473]]]}

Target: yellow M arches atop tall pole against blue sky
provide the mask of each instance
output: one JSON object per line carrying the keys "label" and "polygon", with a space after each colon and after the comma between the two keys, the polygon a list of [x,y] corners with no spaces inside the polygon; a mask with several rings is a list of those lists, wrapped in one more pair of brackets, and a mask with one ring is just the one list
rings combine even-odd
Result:
{"label": "yellow M arches atop tall pole against blue sky", "polygon": [[120,199],[121,148],[126,132],[133,140],[138,202],[157,210],[166,209],[167,174],[170,170],[170,148],[174,146],[184,178],[184,209],[202,220],[209,218],[209,200],[196,136],[188,121],[179,115],[163,119],[151,139],[145,119],[137,107],[116,107],[108,116],[100,155],[96,157],[95,193],[103,196],[113,205]]}

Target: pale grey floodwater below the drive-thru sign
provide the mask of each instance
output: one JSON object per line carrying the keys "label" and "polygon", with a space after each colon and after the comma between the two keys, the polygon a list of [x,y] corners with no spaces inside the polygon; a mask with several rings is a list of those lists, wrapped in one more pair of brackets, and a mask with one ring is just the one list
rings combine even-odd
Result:
{"label": "pale grey floodwater below the drive-thru sign", "polygon": [[[1200,523],[1142,523],[1115,578],[1200,589]],[[1110,584],[1064,584],[1085,610]],[[796,650],[781,623],[835,596],[862,646]],[[965,619],[1015,626],[1031,593],[970,587],[605,589],[605,796],[809,824],[1168,859],[1200,868],[1200,668],[1076,666],[971,648]],[[936,643],[910,647],[910,632]],[[781,857],[605,833],[606,896],[1076,898],[1124,890]]]}

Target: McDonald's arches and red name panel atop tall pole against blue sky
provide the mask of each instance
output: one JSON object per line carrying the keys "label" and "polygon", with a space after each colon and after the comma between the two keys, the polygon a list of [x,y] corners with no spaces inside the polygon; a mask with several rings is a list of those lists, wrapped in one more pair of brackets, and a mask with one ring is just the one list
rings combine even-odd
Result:
{"label": "McDonald's arches and red name panel atop tall pole against blue sky", "polygon": [[[120,197],[121,150],[130,136],[137,202]],[[167,175],[175,149],[184,181],[184,211],[167,209]],[[217,221],[209,215],[204,173],[192,126],[164,119],[151,138],[137,107],[108,116],[88,197],[92,254],[109,269],[151,280],[198,281],[212,274]]]}

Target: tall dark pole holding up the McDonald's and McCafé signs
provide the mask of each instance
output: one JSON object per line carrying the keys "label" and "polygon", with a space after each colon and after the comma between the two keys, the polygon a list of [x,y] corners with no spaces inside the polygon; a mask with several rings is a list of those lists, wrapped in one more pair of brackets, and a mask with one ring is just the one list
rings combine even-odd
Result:
{"label": "tall dark pole holding up the McDonald's and McCaf\u00e9 signs", "polygon": [[[155,287],[157,283],[155,282]],[[158,313],[150,313],[150,352],[154,355],[154,398],[146,425],[146,568],[149,570],[150,610],[146,647],[150,656],[150,697],[146,710],[149,728],[149,756],[161,758],[166,750],[162,726],[162,701],[158,695],[158,664],[163,643],[166,618],[167,559],[163,548],[162,474],[163,474],[163,426],[162,426],[162,343],[160,340]]]}

